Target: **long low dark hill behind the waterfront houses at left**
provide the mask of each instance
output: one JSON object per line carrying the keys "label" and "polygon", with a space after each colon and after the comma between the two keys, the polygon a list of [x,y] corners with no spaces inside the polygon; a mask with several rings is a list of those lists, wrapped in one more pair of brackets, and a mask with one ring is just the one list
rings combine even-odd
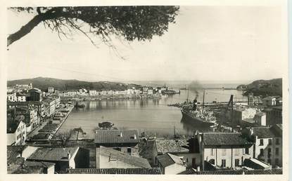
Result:
{"label": "long low dark hill behind the waterfront houses at left", "polygon": [[141,88],[140,85],[134,83],[118,83],[110,81],[99,81],[99,82],[89,82],[89,81],[78,81],[63,80],[63,79],[53,79],[45,77],[37,77],[34,79],[20,79],[7,81],[7,86],[13,86],[15,84],[28,84],[32,83],[34,88],[40,88],[41,90],[47,90],[48,87],[53,87],[55,90],[76,90],[80,88],[86,88],[87,90],[125,90],[127,88]]}

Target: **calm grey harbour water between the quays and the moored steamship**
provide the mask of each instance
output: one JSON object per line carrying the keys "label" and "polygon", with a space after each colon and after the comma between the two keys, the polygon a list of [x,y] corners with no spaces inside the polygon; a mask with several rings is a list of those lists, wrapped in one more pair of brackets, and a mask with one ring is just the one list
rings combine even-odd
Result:
{"label": "calm grey harbour water between the quays and the moored steamship", "polygon": [[[237,101],[243,99],[239,90],[205,90],[205,102],[228,102],[231,94]],[[195,91],[189,90],[189,100],[195,97]],[[167,106],[184,102],[186,98],[187,90],[181,90],[180,94],[160,99],[83,101],[84,109],[73,109],[59,131],[82,127],[87,133],[83,138],[94,138],[98,123],[110,121],[116,128],[137,129],[148,135],[173,135],[174,129],[175,133],[191,135],[196,126],[182,121],[179,108]],[[198,101],[203,102],[202,92],[198,94]]]}

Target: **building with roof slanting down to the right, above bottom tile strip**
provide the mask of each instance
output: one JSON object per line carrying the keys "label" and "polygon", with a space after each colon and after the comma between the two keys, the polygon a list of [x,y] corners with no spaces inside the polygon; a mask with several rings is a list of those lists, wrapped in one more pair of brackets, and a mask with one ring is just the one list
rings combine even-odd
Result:
{"label": "building with roof slanting down to the right, above bottom tile strip", "polygon": [[147,159],[100,146],[96,148],[96,168],[151,168],[151,166]]}

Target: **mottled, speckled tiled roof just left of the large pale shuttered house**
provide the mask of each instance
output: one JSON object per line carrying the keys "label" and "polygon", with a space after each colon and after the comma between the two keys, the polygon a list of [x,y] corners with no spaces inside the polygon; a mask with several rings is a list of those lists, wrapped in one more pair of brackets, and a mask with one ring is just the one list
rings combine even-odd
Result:
{"label": "mottled, speckled tiled roof just left of the large pale shuttered house", "polygon": [[177,152],[189,152],[182,146],[187,145],[186,139],[179,140],[167,140],[167,139],[156,139],[156,147],[158,153],[177,153]]}

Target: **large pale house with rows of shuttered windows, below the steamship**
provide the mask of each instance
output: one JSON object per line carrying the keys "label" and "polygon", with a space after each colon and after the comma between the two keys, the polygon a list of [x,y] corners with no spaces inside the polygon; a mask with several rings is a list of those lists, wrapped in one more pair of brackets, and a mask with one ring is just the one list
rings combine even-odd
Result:
{"label": "large pale house with rows of shuttered windows, below the steamship", "polygon": [[253,142],[241,133],[196,133],[201,154],[201,170],[208,165],[218,168],[238,168],[245,159],[253,158]]}

